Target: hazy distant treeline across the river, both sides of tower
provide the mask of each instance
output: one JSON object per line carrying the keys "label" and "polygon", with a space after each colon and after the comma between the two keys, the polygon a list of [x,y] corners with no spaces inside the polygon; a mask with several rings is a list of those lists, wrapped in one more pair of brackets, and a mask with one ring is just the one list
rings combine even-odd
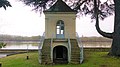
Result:
{"label": "hazy distant treeline across the river, both sides of tower", "polygon": [[[25,36],[13,36],[13,35],[0,35],[0,41],[39,41],[41,36],[32,36],[32,37],[25,37]],[[112,41],[111,39],[104,38],[104,37],[80,37],[81,41]]]}

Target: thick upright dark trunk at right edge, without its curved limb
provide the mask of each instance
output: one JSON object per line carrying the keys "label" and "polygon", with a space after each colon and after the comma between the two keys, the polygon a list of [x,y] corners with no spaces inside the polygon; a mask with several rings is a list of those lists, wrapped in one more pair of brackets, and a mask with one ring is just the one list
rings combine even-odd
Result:
{"label": "thick upright dark trunk at right edge, without its curved limb", "polygon": [[113,42],[109,55],[120,56],[120,0],[114,0],[115,17],[114,17],[114,33]]}

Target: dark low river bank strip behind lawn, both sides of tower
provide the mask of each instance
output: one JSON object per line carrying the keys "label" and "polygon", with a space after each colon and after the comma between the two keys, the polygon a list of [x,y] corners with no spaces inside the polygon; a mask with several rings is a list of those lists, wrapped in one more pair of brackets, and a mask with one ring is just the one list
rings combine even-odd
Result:
{"label": "dark low river bank strip behind lawn, both sides of tower", "polygon": [[[110,48],[84,48],[84,51],[98,51],[98,52],[108,52]],[[15,55],[15,54],[21,54],[21,53],[27,53],[27,52],[35,52],[38,51],[38,49],[0,49],[0,58]]]}

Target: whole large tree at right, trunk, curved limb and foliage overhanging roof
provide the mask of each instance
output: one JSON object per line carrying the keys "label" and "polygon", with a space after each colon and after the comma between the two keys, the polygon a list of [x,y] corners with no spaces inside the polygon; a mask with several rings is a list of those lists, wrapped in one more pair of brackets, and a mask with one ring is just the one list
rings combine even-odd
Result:
{"label": "whole large tree at right, trunk, curved limb and foliage overhanging roof", "polygon": [[[42,12],[56,2],[56,0],[20,0],[26,5],[34,6],[37,11]],[[114,3],[113,3],[113,2]],[[113,39],[109,55],[120,56],[120,1],[119,0],[64,0],[71,8],[78,11],[78,14],[91,15],[91,19],[96,19],[96,30],[103,37]],[[99,19],[115,14],[114,32],[104,32],[99,27]]]}

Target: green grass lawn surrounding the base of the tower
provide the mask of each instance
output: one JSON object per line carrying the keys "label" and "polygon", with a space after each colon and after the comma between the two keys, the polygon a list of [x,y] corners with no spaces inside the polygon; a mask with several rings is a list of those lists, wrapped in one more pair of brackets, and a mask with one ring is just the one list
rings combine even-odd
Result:
{"label": "green grass lawn surrounding the base of the tower", "polygon": [[120,67],[120,58],[107,56],[107,52],[85,51],[83,64],[40,65],[38,52],[30,52],[29,60],[26,54],[17,54],[1,58],[2,67]]}

